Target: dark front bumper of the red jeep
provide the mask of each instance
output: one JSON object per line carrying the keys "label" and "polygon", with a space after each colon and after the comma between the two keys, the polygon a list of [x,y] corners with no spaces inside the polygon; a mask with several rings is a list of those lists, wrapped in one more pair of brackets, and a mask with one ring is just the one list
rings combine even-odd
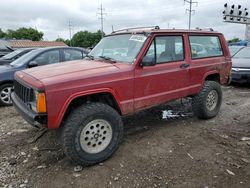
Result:
{"label": "dark front bumper of the red jeep", "polygon": [[11,93],[11,100],[15,109],[29,124],[34,127],[44,127],[47,123],[46,114],[38,114],[32,111],[26,104],[24,104],[14,92]]}

